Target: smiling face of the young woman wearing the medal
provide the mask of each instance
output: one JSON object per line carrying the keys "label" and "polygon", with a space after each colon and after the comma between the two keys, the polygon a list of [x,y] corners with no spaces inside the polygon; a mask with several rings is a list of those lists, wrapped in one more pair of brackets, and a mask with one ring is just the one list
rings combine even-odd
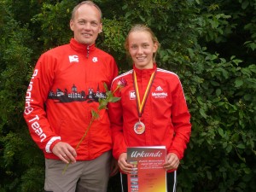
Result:
{"label": "smiling face of the young woman wearing the medal", "polygon": [[128,38],[129,53],[135,66],[139,69],[153,67],[153,54],[158,45],[153,42],[149,32],[131,32]]}

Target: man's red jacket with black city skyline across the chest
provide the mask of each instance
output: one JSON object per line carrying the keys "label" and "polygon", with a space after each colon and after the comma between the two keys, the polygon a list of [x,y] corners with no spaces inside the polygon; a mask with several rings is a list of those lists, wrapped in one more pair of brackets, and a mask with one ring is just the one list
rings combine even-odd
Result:
{"label": "man's red jacket with black city skyline across the chest", "polygon": [[[77,146],[90,123],[91,109],[96,110],[98,99],[106,96],[103,84],[110,87],[117,75],[113,56],[74,38],[41,55],[26,92],[24,118],[45,158],[58,159],[51,151],[60,141]],[[110,149],[110,123],[103,109],[77,149],[77,160],[93,160]]]}

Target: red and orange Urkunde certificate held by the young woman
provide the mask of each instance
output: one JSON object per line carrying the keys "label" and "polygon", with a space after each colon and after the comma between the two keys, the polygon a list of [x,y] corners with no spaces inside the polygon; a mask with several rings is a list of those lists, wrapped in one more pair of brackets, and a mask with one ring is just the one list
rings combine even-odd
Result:
{"label": "red and orange Urkunde certificate held by the young woman", "polygon": [[129,192],[166,192],[165,146],[127,148],[127,162],[133,171],[127,175]]}

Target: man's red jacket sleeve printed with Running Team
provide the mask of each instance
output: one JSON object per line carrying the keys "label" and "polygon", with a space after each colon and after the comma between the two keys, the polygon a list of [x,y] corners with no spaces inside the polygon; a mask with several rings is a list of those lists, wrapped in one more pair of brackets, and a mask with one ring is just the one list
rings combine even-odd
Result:
{"label": "man's red jacket sleeve printed with Running Team", "polygon": [[54,81],[54,62],[55,59],[46,54],[39,58],[26,91],[23,113],[32,139],[47,153],[51,153],[55,143],[61,140],[61,137],[51,130],[44,109],[49,89]]}

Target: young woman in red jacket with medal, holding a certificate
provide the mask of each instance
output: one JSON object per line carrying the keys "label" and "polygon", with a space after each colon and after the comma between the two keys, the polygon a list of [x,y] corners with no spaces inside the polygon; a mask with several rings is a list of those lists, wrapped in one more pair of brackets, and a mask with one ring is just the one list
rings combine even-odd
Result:
{"label": "young woman in red jacket with medal, holding a certificate", "polygon": [[128,191],[126,174],[133,167],[126,161],[127,147],[166,146],[163,168],[170,192],[175,191],[176,170],[189,142],[190,114],[182,84],[177,74],[157,67],[154,59],[158,48],[159,42],[148,26],[133,26],[125,41],[133,69],[113,79],[112,90],[120,82],[125,84],[114,93],[121,100],[108,106],[113,156],[121,171],[122,191]]}

